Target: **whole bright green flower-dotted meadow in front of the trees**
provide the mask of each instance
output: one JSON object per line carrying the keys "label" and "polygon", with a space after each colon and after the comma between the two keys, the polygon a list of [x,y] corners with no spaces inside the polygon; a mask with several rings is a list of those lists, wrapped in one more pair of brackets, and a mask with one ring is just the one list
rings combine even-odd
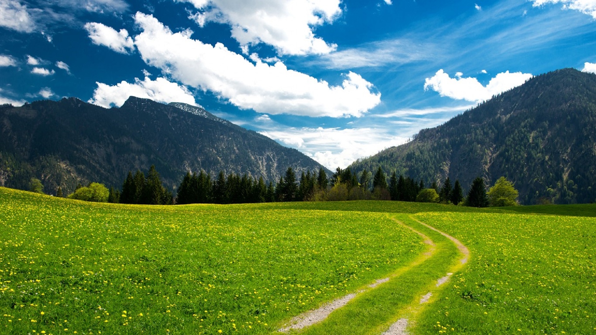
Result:
{"label": "whole bright green flower-dotted meadow in front of the trees", "polygon": [[410,334],[596,333],[591,204],[141,206],[0,188],[0,205],[4,334],[270,334],[349,293],[291,333],[381,334],[399,318]]}

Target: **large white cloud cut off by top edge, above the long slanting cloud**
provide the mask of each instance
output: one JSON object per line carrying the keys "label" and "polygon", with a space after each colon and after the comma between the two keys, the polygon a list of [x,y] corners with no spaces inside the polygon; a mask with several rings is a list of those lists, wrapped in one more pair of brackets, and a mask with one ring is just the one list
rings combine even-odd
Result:
{"label": "large white cloud cut off by top edge, above the long slanting cloud", "polygon": [[[340,0],[175,0],[199,10],[200,26],[228,23],[240,45],[265,43],[285,55],[327,54],[337,45],[316,37],[313,27],[331,23],[341,13]],[[387,0],[386,0],[387,1]]]}

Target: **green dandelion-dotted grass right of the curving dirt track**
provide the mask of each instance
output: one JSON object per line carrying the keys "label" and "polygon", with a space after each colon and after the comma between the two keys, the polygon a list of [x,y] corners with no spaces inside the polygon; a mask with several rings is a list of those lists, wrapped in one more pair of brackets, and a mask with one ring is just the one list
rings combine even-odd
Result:
{"label": "green dandelion-dotted grass right of the curving dirt track", "polygon": [[489,213],[417,218],[459,238],[474,255],[418,321],[417,333],[596,331],[596,219]]}

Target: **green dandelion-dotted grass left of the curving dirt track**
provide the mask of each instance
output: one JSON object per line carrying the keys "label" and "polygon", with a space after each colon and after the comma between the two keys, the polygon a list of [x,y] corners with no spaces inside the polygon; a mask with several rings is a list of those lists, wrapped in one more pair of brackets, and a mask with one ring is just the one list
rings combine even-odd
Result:
{"label": "green dandelion-dotted grass left of the curving dirt track", "polygon": [[0,333],[268,333],[423,249],[384,213],[0,201]]}

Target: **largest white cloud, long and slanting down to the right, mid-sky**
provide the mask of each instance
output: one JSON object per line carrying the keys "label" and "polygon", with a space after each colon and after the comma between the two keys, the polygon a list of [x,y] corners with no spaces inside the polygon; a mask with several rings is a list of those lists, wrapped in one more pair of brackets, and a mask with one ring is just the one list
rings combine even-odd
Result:
{"label": "largest white cloud, long and slanting down to the right, mid-sky", "polygon": [[159,67],[185,85],[215,92],[240,108],[259,113],[303,116],[361,116],[380,103],[373,84],[349,72],[342,85],[289,70],[281,62],[253,64],[224,45],[172,33],[153,15],[136,13],[142,31],[135,45],[145,63]]}

